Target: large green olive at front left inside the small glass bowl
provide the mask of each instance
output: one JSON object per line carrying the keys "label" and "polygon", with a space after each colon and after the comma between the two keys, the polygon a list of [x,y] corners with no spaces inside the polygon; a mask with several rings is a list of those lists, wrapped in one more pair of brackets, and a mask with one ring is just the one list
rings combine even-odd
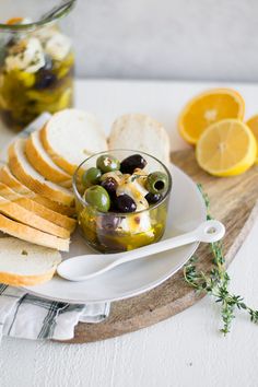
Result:
{"label": "large green olive at front left inside the small glass bowl", "polygon": [[102,186],[92,186],[84,192],[86,202],[101,212],[107,212],[110,208],[110,198],[106,189]]}

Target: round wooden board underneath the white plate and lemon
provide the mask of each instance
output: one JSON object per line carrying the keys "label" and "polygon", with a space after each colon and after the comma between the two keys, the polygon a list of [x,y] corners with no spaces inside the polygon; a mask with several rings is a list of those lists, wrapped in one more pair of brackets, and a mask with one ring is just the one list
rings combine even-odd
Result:
{"label": "round wooden board underneath the white plate and lemon", "polygon": [[[195,160],[194,150],[172,154],[172,162],[185,171],[196,183],[201,183],[209,195],[211,213],[226,226],[223,246],[228,265],[247,237],[258,215],[258,166],[236,177],[215,178],[201,171]],[[200,268],[211,268],[208,245],[197,250]],[[156,289],[142,295],[114,302],[108,319],[101,324],[79,324],[75,337],[69,343],[85,343],[105,340],[132,332],[156,324],[195,304],[203,295],[197,295],[186,284],[183,271],[165,281]]]}

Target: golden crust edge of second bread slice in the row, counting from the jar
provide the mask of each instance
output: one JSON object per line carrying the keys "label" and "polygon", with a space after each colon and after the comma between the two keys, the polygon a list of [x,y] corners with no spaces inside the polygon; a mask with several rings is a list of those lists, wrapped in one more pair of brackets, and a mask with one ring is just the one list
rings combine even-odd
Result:
{"label": "golden crust edge of second bread slice in the row, counting from the jar", "polygon": [[52,167],[44,156],[39,153],[34,142],[33,134],[26,140],[25,153],[30,163],[45,178],[52,183],[57,183],[62,187],[71,188],[72,177],[59,167]]}

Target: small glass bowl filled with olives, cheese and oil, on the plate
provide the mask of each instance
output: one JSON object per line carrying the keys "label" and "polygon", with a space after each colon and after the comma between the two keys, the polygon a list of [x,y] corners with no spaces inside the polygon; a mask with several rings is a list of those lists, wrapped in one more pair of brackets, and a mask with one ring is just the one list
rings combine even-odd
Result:
{"label": "small glass bowl filled with olives, cheese and oil, on the plate", "polygon": [[161,239],[172,177],[157,159],[130,150],[95,154],[78,167],[73,190],[80,230],[94,249],[128,251]]}

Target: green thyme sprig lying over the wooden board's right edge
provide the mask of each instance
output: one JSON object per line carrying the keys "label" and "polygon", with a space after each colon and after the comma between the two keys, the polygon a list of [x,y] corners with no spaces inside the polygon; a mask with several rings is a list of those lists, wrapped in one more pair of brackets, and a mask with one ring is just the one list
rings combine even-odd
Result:
{"label": "green thyme sprig lying over the wooden board's right edge", "polygon": [[[207,219],[212,219],[210,213],[210,201],[203,192],[202,186],[198,185],[207,206]],[[258,324],[258,310],[250,308],[244,302],[241,295],[232,294],[228,290],[230,275],[225,269],[225,258],[223,255],[223,246],[221,242],[210,244],[212,253],[213,267],[209,272],[198,270],[198,257],[192,256],[188,263],[184,267],[184,277],[186,282],[196,289],[198,293],[211,295],[218,304],[221,305],[222,328],[220,331],[224,335],[231,331],[232,321],[236,312],[245,310],[251,322]]]}

